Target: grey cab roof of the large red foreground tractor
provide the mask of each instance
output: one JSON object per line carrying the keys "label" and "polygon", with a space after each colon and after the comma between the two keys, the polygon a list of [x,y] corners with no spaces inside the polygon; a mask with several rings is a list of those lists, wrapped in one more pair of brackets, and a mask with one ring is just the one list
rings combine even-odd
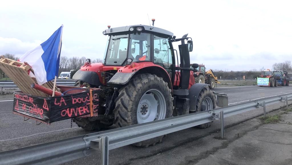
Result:
{"label": "grey cab roof of the large red foreground tractor", "polygon": [[[173,36],[173,33],[158,27],[152,28],[152,26],[147,26],[147,25],[131,25],[131,26],[123,26],[123,27],[114,27],[110,29],[106,29],[106,34],[113,34],[113,33],[120,33],[124,31],[129,31],[130,27],[134,27],[136,29],[137,27],[142,27],[142,31],[148,31],[148,32],[154,32],[154,33],[159,33],[159,34],[164,34],[168,36]],[[152,28],[152,29],[151,29]]]}

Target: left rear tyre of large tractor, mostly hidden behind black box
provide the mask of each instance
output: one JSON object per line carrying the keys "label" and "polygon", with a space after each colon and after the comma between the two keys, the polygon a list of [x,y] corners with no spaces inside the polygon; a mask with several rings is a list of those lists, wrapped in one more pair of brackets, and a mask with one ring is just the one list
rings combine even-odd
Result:
{"label": "left rear tyre of large tractor, mostly hidden behind black box", "polygon": [[[83,85],[83,81],[76,81],[74,87],[80,87]],[[91,120],[90,117],[78,117],[74,118],[73,122],[87,131],[105,129],[113,124],[113,120],[103,119],[103,120]]]}

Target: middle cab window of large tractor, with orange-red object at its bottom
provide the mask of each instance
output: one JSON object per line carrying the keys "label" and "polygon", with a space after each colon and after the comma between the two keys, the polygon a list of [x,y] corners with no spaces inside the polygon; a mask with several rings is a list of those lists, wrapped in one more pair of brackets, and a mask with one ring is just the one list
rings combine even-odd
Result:
{"label": "middle cab window of large tractor, with orange-red object at its bottom", "polygon": [[135,61],[150,61],[150,34],[135,33],[130,34],[130,48],[128,58]]}

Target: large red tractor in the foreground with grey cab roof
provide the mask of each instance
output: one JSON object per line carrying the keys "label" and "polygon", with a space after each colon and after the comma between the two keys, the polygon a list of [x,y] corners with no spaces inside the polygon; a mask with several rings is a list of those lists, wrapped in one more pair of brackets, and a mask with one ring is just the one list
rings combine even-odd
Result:
{"label": "large red tractor in the foreground with grey cab roof", "polygon": [[[191,38],[187,34],[176,38],[170,31],[154,27],[152,21],[153,26],[108,26],[103,31],[108,35],[103,62],[91,64],[87,59],[73,76],[77,80],[75,86],[102,90],[98,115],[74,118],[79,127],[86,130],[111,125],[126,127],[216,107],[215,94],[208,85],[195,83],[197,70],[190,68]],[[178,46],[180,65],[175,61],[178,53],[173,42],[181,42]],[[193,67],[197,68],[198,64]],[[223,97],[222,106],[228,105],[226,98]],[[209,126],[210,123],[199,125],[201,128]],[[133,145],[148,147],[162,138]]]}

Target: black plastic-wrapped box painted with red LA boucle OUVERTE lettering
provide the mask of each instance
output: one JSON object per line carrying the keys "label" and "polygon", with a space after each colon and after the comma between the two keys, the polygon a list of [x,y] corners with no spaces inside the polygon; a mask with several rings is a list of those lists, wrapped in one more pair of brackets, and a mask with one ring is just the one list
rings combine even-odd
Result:
{"label": "black plastic-wrapped box painted with red LA boucle OUVERTE lettering", "polygon": [[[67,94],[56,97],[41,97],[14,93],[13,111],[52,123],[82,115],[97,113],[99,106],[99,90]],[[92,104],[91,100],[92,98]],[[91,110],[92,109],[92,110]]]}

